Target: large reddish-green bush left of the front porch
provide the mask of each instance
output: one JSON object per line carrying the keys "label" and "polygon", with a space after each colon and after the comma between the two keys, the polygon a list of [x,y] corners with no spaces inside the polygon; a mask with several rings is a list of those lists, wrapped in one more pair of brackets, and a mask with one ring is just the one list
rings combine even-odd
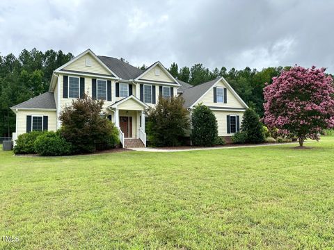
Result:
{"label": "large reddish-green bush left of the front porch", "polygon": [[93,100],[87,95],[72,101],[61,112],[61,136],[72,143],[74,153],[91,153],[96,150],[115,147],[118,130],[100,115],[104,101]]}

